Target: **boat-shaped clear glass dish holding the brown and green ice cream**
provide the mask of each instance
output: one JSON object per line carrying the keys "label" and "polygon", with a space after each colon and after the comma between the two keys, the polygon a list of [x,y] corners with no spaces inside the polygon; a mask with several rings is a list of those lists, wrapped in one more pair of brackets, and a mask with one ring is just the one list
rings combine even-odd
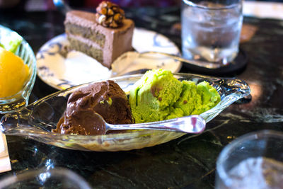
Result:
{"label": "boat-shaped clear glass dish holding the brown and green ice cream", "polygon": [[[121,76],[112,78],[112,80],[117,82],[126,94],[129,94],[131,87],[141,76],[141,74]],[[219,79],[194,74],[174,74],[174,76],[180,81],[190,80],[196,83],[208,81],[219,92],[221,96],[220,103],[201,114],[206,122],[212,120],[222,110],[231,105],[231,103],[244,96],[248,96],[250,93],[248,84],[239,79]],[[4,115],[0,123],[2,131],[8,135],[21,135],[57,147],[83,151],[141,149],[168,142],[185,134],[158,130],[132,130],[129,132],[97,136],[57,134],[51,132],[56,127],[59,118],[64,114],[69,94],[87,85],[82,84],[53,93],[28,105],[21,111]]]}

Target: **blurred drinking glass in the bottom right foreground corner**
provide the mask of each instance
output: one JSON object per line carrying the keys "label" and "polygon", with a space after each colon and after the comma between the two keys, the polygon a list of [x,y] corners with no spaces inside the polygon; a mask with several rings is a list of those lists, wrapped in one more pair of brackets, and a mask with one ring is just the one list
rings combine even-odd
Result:
{"label": "blurred drinking glass in the bottom right foreground corner", "polygon": [[252,132],[235,139],[216,162],[217,189],[282,188],[283,133]]}

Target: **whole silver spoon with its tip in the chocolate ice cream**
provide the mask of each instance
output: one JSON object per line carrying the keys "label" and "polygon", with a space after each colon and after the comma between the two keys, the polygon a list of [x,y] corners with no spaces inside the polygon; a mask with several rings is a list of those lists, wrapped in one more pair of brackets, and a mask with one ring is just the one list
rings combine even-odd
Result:
{"label": "whole silver spoon with its tip in the chocolate ice cream", "polygon": [[96,121],[96,134],[106,134],[110,130],[165,130],[173,132],[200,133],[205,129],[205,121],[200,115],[190,115],[182,118],[160,122],[145,122],[137,124],[112,125],[98,113],[93,114]]}

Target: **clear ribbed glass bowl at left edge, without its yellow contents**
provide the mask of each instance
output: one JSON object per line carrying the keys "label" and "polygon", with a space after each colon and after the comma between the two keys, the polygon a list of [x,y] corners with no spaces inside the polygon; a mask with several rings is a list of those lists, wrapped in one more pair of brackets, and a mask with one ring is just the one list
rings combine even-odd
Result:
{"label": "clear ribbed glass bowl at left edge, without its yellow contents", "polygon": [[[0,43],[5,44],[9,41],[9,39],[12,40],[13,38],[22,37],[13,30],[0,25]],[[15,54],[21,57],[23,62],[28,65],[30,75],[28,76],[28,79],[21,91],[18,91],[18,93],[13,96],[0,98],[0,113],[10,113],[28,105],[28,98],[30,97],[33,85],[35,84],[36,60],[35,54],[33,53],[30,45],[28,45],[28,42],[23,39]]]}

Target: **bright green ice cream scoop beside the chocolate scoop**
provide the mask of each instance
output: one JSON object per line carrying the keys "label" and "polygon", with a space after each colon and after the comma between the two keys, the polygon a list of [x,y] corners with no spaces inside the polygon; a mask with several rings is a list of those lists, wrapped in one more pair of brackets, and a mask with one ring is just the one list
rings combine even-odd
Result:
{"label": "bright green ice cream scoop beside the chocolate scoop", "polygon": [[137,123],[200,115],[219,102],[219,93],[207,81],[179,81],[164,69],[147,71],[129,93]]}

